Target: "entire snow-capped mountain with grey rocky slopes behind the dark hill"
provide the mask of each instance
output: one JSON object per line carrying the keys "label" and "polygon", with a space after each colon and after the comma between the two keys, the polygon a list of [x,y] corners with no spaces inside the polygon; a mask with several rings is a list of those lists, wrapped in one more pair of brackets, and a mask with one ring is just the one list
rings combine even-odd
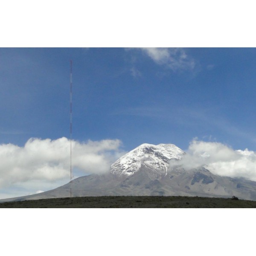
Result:
{"label": "entire snow-capped mountain with grey rocky slopes behind the dark hill", "polygon": [[[142,144],[120,157],[104,175],[87,175],[56,189],[3,201],[103,195],[202,196],[256,200],[256,182],[221,177],[201,167],[183,169],[184,151],[172,144]],[[177,166],[169,169],[169,160]]]}

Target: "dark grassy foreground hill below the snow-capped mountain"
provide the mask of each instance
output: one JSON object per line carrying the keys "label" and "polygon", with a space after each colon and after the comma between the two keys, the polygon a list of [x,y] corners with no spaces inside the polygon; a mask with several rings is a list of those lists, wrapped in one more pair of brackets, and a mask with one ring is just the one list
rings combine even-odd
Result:
{"label": "dark grassy foreground hill below the snow-capped mountain", "polygon": [[187,196],[97,196],[0,203],[0,208],[256,208],[256,201]]}

